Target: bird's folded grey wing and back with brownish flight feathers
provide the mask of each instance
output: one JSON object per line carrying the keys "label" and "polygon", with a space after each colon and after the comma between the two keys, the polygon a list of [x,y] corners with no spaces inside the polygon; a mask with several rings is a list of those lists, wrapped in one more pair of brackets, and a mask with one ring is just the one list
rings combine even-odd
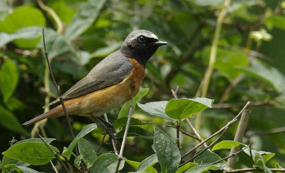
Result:
{"label": "bird's folded grey wing and back with brownish flight feathers", "polygon": [[[66,93],[62,95],[63,100],[72,99],[86,95],[114,84],[118,84],[131,72],[134,66],[131,62],[116,51],[99,62],[83,79],[78,81]],[[59,102],[59,98],[45,105],[50,106]]]}

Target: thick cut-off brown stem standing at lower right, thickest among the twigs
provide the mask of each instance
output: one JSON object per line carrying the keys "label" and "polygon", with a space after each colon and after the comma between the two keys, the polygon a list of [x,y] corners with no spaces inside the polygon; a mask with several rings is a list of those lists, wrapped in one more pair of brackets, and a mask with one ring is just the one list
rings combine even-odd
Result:
{"label": "thick cut-off brown stem standing at lower right, thickest among the twigs", "polygon": [[[237,141],[237,142],[242,141],[242,138],[244,137],[244,133],[245,133],[247,124],[249,122],[249,115],[250,115],[249,110],[244,110],[242,112],[242,116],[240,117],[240,122],[238,123],[238,126],[237,126],[237,131],[235,132],[234,141]],[[236,153],[239,150],[240,150],[240,146],[236,146],[236,147],[231,148],[229,156],[231,156],[233,153]],[[237,159],[236,156],[228,159],[227,162],[229,163],[229,165],[226,165],[226,167],[224,168],[224,173],[226,172],[226,170],[234,168],[236,159]]]}

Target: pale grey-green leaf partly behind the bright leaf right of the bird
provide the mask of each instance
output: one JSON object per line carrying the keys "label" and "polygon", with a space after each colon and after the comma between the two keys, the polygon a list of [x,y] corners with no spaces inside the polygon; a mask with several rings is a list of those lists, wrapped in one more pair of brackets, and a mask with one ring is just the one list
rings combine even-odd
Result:
{"label": "pale grey-green leaf partly behind the bright leaf right of the bird", "polygon": [[165,113],[165,108],[168,101],[160,101],[160,102],[148,102],[146,104],[138,104],[138,107],[140,107],[143,111],[149,113],[150,115],[155,115],[167,120],[170,120],[171,122],[176,122],[174,119],[170,118]]}

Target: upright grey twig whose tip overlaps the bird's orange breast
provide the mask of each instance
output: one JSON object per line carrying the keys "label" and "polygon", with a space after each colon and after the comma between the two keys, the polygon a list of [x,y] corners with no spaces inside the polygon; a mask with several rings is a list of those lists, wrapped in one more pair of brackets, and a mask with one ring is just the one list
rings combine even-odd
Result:
{"label": "upright grey twig whose tip overlaps the bird's orange breast", "polygon": [[129,126],[130,126],[130,123],[131,123],[131,114],[133,112],[133,108],[134,108],[134,90],[132,91],[131,104],[129,106],[129,115],[128,115],[127,124],[126,124],[126,127],[125,127],[125,132],[124,132],[124,136],[123,136],[122,145],[121,145],[121,148],[120,148],[120,154],[119,154],[118,164],[117,164],[117,168],[116,168],[115,173],[118,172],[121,160],[123,159],[123,152],[124,152],[124,149],[125,149],[126,139],[127,139],[127,135],[128,135],[128,130],[129,130]]}

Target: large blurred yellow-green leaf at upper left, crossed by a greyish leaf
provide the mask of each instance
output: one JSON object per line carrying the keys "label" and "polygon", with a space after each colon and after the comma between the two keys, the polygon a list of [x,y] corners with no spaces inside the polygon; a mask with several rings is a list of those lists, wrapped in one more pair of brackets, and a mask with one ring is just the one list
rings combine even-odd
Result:
{"label": "large blurred yellow-green leaf at upper left, crossed by a greyish leaf", "polygon": [[[9,14],[6,17],[5,21],[0,21],[0,26],[0,32],[12,33],[23,27],[45,26],[45,17],[43,16],[41,10],[30,6],[22,5],[15,8],[13,13]],[[18,47],[22,49],[34,48],[40,40],[38,34],[36,34],[34,38],[36,39],[20,39],[15,40],[14,42]]]}

